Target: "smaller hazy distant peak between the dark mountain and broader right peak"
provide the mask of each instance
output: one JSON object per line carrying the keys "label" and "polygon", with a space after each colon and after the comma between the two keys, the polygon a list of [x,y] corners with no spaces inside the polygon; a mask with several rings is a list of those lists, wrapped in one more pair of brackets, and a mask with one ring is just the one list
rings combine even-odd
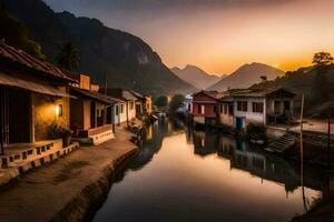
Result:
{"label": "smaller hazy distant peak between the dark mountain and broader right peak", "polygon": [[214,74],[208,74],[204,70],[195,65],[186,65],[184,69],[177,67],[170,69],[177,77],[189,82],[198,89],[205,89],[216,83],[220,78]]}

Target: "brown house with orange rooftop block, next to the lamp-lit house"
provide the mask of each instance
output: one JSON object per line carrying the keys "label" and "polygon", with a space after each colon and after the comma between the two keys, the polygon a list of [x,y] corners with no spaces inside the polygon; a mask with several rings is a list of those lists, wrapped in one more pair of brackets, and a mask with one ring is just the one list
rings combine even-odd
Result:
{"label": "brown house with orange rooftop block, next to the lamp-lit house", "polygon": [[73,140],[96,145],[114,139],[112,118],[117,117],[118,100],[99,93],[98,87],[91,87],[90,78],[84,74],[79,75],[79,85],[70,88],[70,94]]}

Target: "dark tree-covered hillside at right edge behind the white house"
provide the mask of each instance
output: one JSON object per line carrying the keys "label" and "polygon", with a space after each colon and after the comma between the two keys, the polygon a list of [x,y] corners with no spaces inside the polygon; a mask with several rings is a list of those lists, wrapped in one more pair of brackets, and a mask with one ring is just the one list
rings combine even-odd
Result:
{"label": "dark tree-covered hillside at right edge behind the white house", "polygon": [[[328,107],[334,101],[334,64],[299,68],[272,81],[252,85],[253,89],[284,88],[296,94],[295,108],[301,107],[305,95],[306,117],[327,117]],[[332,110],[333,113],[333,110]]]}

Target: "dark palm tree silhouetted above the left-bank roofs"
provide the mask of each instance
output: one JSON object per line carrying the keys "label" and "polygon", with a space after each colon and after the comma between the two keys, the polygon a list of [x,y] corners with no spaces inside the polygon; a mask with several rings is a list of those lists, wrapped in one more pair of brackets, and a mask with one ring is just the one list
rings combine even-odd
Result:
{"label": "dark palm tree silhouetted above the left-bank roofs", "polygon": [[79,51],[71,42],[68,42],[63,46],[60,53],[57,57],[58,64],[68,70],[72,71],[79,68]]}

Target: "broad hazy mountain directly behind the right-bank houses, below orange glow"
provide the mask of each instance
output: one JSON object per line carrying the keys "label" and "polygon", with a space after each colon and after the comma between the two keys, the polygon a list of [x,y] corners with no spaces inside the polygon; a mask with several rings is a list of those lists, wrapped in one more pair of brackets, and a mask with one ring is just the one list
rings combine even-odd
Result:
{"label": "broad hazy mountain directly behind the right-bank houses, below orange glow", "polygon": [[228,88],[248,88],[255,83],[261,82],[261,77],[266,75],[267,80],[273,80],[277,77],[284,75],[284,71],[267,64],[253,62],[244,64],[232,74],[222,79],[217,83],[208,88],[208,90],[225,91]]}

